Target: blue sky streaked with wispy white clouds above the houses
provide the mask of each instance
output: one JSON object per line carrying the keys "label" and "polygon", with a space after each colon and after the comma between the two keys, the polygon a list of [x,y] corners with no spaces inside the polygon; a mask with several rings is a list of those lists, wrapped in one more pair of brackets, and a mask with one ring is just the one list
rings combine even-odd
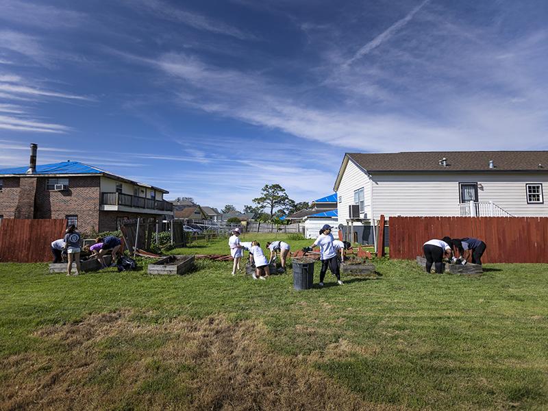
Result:
{"label": "blue sky streaked with wispy white clouds above the houses", "polygon": [[0,166],[239,208],[345,151],[548,149],[548,2],[0,0]]}

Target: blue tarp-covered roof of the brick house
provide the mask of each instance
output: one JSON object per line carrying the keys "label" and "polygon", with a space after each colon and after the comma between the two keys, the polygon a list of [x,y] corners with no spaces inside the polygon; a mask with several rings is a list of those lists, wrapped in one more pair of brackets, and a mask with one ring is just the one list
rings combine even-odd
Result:
{"label": "blue tarp-covered roof of the brick house", "polygon": [[113,179],[117,179],[123,182],[129,182],[138,186],[153,188],[154,190],[162,191],[164,193],[169,192],[167,190],[164,190],[163,188],[151,186],[150,184],[135,182],[131,179],[127,179],[125,177],[109,173],[108,171],[98,169],[95,166],[90,166],[89,164],[84,164],[77,161],[64,161],[53,164],[39,164],[36,165],[36,172],[32,174],[27,174],[28,169],[29,166],[0,169],[0,175],[21,175],[21,177],[32,175],[105,175],[105,177],[111,177]]}

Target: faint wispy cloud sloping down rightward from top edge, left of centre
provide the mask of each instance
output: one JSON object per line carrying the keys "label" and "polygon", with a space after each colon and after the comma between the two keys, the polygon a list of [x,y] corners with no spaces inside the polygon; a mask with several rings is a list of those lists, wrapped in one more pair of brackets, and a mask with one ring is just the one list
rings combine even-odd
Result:
{"label": "faint wispy cloud sloping down rightward from top edge, left of centre", "polygon": [[231,36],[238,38],[239,40],[255,40],[256,36],[253,34],[243,32],[238,27],[228,25],[222,21],[215,20],[213,18],[203,16],[195,12],[189,12],[179,7],[175,7],[169,3],[160,0],[126,0],[129,5],[138,7],[141,10],[147,10],[153,12],[156,16],[168,21],[175,21],[176,23],[183,23],[189,27],[201,30],[204,32],[211,32],[214,34],[223,34],[225,36]]}

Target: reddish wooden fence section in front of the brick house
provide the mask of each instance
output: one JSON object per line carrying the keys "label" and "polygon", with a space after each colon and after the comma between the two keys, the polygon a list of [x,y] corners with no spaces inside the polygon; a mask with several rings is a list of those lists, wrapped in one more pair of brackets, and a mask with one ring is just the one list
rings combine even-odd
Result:
{"label": "reddish wooden fence section in front of the brick house", "polygon": [[3,219],[0,262],[47,262],[51,242],[64,237],[66,220]]}

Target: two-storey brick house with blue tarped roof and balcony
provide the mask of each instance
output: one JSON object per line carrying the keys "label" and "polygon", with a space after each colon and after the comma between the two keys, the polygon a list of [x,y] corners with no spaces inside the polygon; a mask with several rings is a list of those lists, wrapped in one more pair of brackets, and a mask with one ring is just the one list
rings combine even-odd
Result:
{"label": "two-storey brick house with blue tarped roof and balcony", "polygon": [[168,191],[81,162],[0,169],[1,219],[67,219],[85,233],[115,230],[124,219],[173,218]]}

